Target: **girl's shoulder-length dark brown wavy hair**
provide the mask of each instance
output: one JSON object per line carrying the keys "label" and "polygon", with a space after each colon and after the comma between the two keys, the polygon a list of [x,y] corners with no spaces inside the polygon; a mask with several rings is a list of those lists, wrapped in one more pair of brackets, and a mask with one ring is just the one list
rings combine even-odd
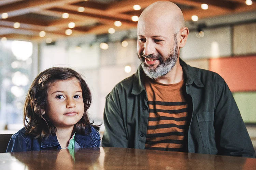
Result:
{"label": "girl's shoulder-length dark brown wavy hair", "polygon": [[91,105],[91,92],[82,75],[71,68],[52,67],[41,72],[29,88],[24,105],[26,135],[31,134],[34,138],[44,138],[56,132],[56,127],[49,120],[47,113],[42,113],[47,108],[47,89],[55,81],[69,80],[72,78],[79,80],[84,102],[84,115],[74,125],[73,131],[79,134],[85,134],[85,129],[88,128],[90,130],[90,125],[99,130],[100,125],[93,125],[93,123],[90,123],[88,117],[87,111]]}

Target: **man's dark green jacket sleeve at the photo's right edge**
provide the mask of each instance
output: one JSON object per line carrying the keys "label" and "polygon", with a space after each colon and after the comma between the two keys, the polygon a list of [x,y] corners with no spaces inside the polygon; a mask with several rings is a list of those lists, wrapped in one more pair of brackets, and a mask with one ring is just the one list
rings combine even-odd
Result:
{"label": "man's dark green jacket sleeve at the photo's right edge", "polygon": [[218,154],[255,157],[252,141],[238,106],[223,79],[217,91],[214,123]]}

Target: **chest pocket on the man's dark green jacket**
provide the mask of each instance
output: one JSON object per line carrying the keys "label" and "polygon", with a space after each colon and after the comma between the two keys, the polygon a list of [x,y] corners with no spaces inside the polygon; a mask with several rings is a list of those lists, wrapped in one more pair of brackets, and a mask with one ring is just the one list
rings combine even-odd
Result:
{"label": "chest pocket on the man's dark green jacket", "polygon": [[215,130],[213,126],[214,112],[201,112],[196,114],[200,134],[205,148],[211,149],[215,144]]}

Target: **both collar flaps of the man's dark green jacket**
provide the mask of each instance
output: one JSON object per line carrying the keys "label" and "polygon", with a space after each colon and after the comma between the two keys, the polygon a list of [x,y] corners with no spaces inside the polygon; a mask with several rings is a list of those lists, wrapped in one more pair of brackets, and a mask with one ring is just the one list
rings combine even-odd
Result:
{"label": "both collar flaps of the man's dark green jacket", "polygon": [[[203,87],[203,84],[202,84],[198,74],[194,70],[194,68],[187,65],[183,60],[181,60],[181,59],[179,59],[179,60],[180,60],[180,65],[181,65],[184,75],[185,75],[186,85],[193,84],[193,82],[194,82],[196,86]],[[134,81],[133,81],[132,92],[131,92],[133,95],[139,95],[143,90],[145,90],[145,87],[144,87],[143,81],[142,81],[142,74],[144,74],[144,73],[143,73],[143,69],[140,65],[139,68],[137,69],[137,72],[134,74]]]}

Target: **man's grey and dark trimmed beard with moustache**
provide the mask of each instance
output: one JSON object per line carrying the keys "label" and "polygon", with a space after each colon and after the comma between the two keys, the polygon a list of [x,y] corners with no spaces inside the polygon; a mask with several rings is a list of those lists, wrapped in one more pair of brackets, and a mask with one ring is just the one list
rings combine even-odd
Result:
{"label": "man's grey and dark trimmed beard with moustache", "polygon": [[[177,39],[174,40],[174,46],[171,53],[168,55],[168,58],[163,58],[160,54],[153,56],[153,54],[145,56],[143,53],[141,54],[141,66],[144,73],[151,79],[157,79],[169,73],[172,68],[175,66],[178,59],[178,45]],[[146,63],[144,57],[147,58],[159,58],[160,64],[156,68],[149,68]],[[165,61],[164,61],[165,59]]]}

